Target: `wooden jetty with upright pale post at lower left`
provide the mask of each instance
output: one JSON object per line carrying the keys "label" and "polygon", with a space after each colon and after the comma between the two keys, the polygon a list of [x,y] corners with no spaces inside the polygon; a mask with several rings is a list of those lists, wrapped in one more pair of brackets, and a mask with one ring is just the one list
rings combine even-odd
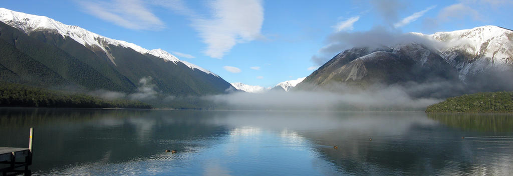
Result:
{"label": "wooden jetty with upright pale post at lower left", "polygon": [[[32,164],[32,135],[34,129],[30,128],[29,148],[0,147],[0,172],[2,175],[31,175],[29,166]],[[7,167],[4,167],[6,165]],[[17,170],[23,167],[23,170]]]}

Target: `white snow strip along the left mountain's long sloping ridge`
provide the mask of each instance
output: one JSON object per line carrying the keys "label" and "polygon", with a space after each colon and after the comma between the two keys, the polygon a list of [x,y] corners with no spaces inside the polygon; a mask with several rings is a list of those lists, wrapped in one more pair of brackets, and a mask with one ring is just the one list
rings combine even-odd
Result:
{"label": "white snow strip along the left mountain's long sloping ridge", "polygon": [[59,21],[56,21],[46,16],[26,14],[5,8],[0,8],[0,20],[7,25],[24,31],[26,34],[29,34],[34,31],[45,30],[60,34],[64,38],[70,37],[87,48],[91,48],[92,50],[104,51],[114,65],[116,65],[116,58],[112,56],[112,54],[109,52],[109,45],[130,48],[141,54],[151,54],[164,60],[171,61],[175,64],[177,64],[178,62],[182,62],[183,64],[187,65],[187,67],[193,70],[198,69],[207,74],[212,74],[216,77],[219,77],[218,75],[206,69],[203,69],[198,65],[189,63],[187,61],[182,61],[162,49],[147,50],[143,47],[135,45],[134,43],[101,36],[96,33],[85,30],[83,28],[80,28],[78,26],[65,25]]}

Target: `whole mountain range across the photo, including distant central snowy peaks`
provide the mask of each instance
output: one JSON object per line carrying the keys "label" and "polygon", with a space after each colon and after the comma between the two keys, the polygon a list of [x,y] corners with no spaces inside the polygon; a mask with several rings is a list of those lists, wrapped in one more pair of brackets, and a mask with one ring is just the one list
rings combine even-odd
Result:
{"label": "whole mountain range across the photo, including distant central snowy peaks", "polygon": [[408,33],[400,43],[351,48],[306,78],[265,88],[230,84],[162,49],[147,50],[45,16],[0,8],[0,21],[0,80],[50,89],[135,93],[151,84],[164,94],[209,95],[397,85],[415,89],[416,97],[513,90],[513,31],[497,26]]}

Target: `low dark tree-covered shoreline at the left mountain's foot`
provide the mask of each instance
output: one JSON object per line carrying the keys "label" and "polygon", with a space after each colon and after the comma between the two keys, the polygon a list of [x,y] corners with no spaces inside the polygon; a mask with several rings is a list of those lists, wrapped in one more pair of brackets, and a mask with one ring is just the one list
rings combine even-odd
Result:
{"label": "low dark tree-covered shoreline at the left mountain's foot", "polygon": [[0,106],[73,108],[152,108],[131,100],[105,100],[86,94],[46,90],[21,84],[0,82]]}

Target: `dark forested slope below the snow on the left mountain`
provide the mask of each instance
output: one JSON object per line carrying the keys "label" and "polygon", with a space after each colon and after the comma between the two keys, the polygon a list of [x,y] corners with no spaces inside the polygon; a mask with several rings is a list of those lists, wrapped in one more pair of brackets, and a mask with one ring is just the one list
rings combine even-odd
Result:
{"label": "dark forested slope below the snow on the left mountain", "polygon": [[181,96],[224,94],[230,87],[221,77],[182,62],[123,46],[106,44],[105,49],[109,52],[55,31],[26,34],[0,21],[0,80],[45,89],[132,94],[150,77],[160,92]]}

